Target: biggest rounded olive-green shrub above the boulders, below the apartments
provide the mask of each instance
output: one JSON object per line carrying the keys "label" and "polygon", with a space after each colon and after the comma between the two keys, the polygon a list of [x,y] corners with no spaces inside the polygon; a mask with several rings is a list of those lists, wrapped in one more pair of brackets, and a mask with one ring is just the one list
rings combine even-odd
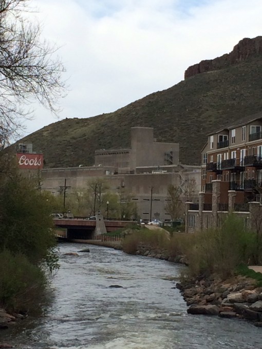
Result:
{"label": "biggest rounded olive-green shrub above the boulders, below the apartments", "polygon": [[217,273],[227,277],[234,274],[240,263],[248,263],[253,244],[254,234],[245,228],[244,222],[228,215],[221,227],[192,234],[182,249],[193,276]]}

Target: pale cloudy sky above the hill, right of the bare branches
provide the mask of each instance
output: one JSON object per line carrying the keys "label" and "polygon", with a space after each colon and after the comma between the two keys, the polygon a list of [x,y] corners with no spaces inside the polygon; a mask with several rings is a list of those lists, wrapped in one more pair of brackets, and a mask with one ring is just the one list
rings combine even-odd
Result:
{"label": "pale cloudy sky above the hill, right of the bare branches", "polygon": [[[33,0],[43,36],[61,46],[64,118],[115,111],[183,80],[188,66],[262,35],[261,0]],[[56,122],[36,105],[29,134]]]}

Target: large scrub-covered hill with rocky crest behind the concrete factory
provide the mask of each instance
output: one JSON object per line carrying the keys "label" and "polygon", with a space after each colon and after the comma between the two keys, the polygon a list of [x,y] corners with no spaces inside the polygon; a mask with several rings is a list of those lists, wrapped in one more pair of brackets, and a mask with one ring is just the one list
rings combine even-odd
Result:
{"label": "large scrub-covered hill with rocky crest behind the concrete factory", "polygon": [[262,110],[261,52],[262,36],[244,39],[231,53],[189,67],[169,89],[112,113],[50,124],[19,142],[43,151],[46,167],[92,165],[96,149],[129,146],[130,127],[149,126],[157,141],[180,144],[181,163],[199,164],[208,133]]}

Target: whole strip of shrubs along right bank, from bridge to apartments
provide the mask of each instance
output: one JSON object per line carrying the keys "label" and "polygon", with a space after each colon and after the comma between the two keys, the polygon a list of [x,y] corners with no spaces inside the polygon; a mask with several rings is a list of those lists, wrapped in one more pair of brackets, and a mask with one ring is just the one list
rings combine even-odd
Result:
{"label": "whole strip of shrubs along right bank, from bridge to apartments", "polygon": [[184,256],[189,277],[216,274],[227,278],[238,273],[240,265],[262,262],[262,237],[249,231],[244,221],[233,215],[228,215],[219,228],[195,234],[144,228],[125,237],[123,250],[135,254],[141,245],[162,249],[173,258]]}

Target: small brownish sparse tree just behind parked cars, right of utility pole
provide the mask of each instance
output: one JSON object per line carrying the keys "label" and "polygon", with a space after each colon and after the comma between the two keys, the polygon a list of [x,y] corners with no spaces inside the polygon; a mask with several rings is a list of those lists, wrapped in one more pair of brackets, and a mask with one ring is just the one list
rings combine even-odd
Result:
{"label": "small brownish sparse tree just behind parked cars, right of utility pole", "polygon": [[181,200],[180,188],[170,184],[167,187],[167,203],[165,210],[170,214],[172,220],[176,220],[181,217],[184,207]]}

